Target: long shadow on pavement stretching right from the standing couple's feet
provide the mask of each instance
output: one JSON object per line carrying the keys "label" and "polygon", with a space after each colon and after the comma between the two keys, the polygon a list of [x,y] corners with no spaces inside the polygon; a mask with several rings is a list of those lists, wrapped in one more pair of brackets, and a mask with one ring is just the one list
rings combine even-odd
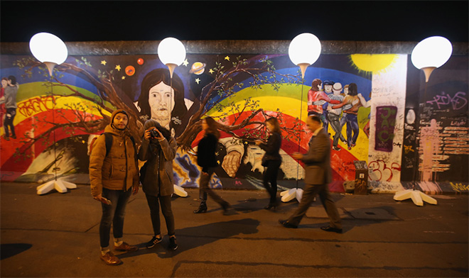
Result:
{"label": "long shadow on pavement stretching right from the standing couple's feet", "polygon": [[257,227],[260,221],[252,218],[244,218],[240,220],[210,223],[203,226],[188,227],[176,229],[176,237],[178,238],[179,248],[177,250],[168,250],[168,237],[163,238],[163,242],[158,243],[154,248],[146,249],[145,243],[140,243],[139,250],[133,253],[124,253],[117,255],[120,259],[126,257],[134,257],[144,254],[156,253],[158,257],[173,257],[193,248],[214,243],[217,240],[231,238],[240,234],[257,233]]}

